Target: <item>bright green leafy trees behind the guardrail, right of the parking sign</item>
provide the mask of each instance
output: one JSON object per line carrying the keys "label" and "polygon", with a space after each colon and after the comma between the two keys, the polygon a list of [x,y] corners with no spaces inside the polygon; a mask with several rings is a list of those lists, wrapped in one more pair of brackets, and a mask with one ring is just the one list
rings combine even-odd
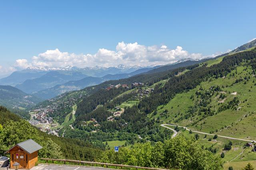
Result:
{"label": "bright green leafy trees behind the guardrail, right of the parking sign", "polygon": [[[101,161],[115,163],[114,150],[103,153]],[[135,166],[164,167],[182,170],[221,170],[220,158],[201,149],[194,140],[178,136],[164,143],[138,143],[131,149],[121,147],[118,163]]]}

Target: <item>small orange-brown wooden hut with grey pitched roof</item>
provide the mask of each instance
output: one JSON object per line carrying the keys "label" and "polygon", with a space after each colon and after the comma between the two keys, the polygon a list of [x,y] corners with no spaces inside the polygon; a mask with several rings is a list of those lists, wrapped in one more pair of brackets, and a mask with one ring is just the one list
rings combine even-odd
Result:
{"label": "small orange-brown wooden hut with grey pitched roof", "polygon": [[42,149],[42,147],[32,139],[16,144],[5,152],[10,153],[10,168],[14,168],[14,162],[20,164],[19,169],[32,168],[38,161],[39,149]]}

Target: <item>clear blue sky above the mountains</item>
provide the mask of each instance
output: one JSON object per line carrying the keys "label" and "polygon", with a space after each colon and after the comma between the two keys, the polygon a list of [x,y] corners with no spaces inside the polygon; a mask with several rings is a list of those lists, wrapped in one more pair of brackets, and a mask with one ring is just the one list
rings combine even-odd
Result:
{"label": "clear blue sky above the mountains", "polygon": [[[118,64],[126,64],[126,61],[127,64],[172,63],[191,54],[202,57],[226,52],[256,37],[255,6],[254,0],[2,1],[0,74],[18,69],[20,65],[15,62],[19,59],[27,60],[23,61],[25,66],[34,66],[33,61],[44,63],[42,66],[63,66],[68,64],[72,53],[102,57],[99,49],[107,49],[108,55],[117,55],[114,58],[120,59],[120,54],[109,51],[118,51],[116,46],[122,41],[126,51],[120,49],[123,63]],[[135,42],[147,52],[129,53],[129,43],[129,48],[139,50],[142,47],[135,47]],[[179,57],[177,52],[167,58],[162,54],[163,59],[148,52],[148,47],[154,45],[156,51],[162,45],[167,46],[168,51],[180,46],[188,54]],[[54,53],[55,58],[56,55],[59,59],[69,58],[64,64],[50,61],[47,50],[53,50],[48,52]],[[142,53],[151,55],[150,59],[135,59]],[[108,55],[104,53],[105,58],[102,57],[98,65],[106,63]],[[33,56],[37,58],[32,59]],[[78,58],[83,60],[83,57]],[[87,63],[81,66],[96,65],[96,59],[99,58],[94,56],[90,58],[94,62],[85,61]]]}

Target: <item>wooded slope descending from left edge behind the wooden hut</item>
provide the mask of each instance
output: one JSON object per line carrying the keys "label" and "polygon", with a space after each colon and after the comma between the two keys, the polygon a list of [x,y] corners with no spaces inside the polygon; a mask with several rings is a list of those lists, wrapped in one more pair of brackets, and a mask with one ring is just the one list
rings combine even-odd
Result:
{"label": "wooded slope descending from left edge behind the wooden hut", "polygon": [[95,161],[102,152],[102,149],[92,143],[43,133],[32,127],[28,121],[0,106],[0,153],[3,155],[13,145],[27,139],[33,139],[43,146],[39,156],[44,158]]}

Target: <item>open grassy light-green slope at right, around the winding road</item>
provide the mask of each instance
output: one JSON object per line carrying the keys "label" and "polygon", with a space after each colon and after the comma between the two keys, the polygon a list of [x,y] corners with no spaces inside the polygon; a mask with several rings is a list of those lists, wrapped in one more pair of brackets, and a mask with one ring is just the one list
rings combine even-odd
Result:
{"label": "open grassy light-green slope at right, around the winding road", "polygon": [[[218,58],[216,61],[208,61],[207,63],[216,64],[222,61],[222,58]],[[159,106],[156,115],[151,113],[150,116],[160,119],[162,123],[186,126],[196,131],[239,139],[256,140],[256,78],[252,74],[252,68],[244,64],[242,63],[237,66],[226,77],[210,77],[196,88],[177,94],[168,104]],[[237,79],[242,81],[236,82]],[[211,90],[213,86],[219,86],[220,90],[213,92]],[[196,95],[196,92],[201,94]],[[206,100],[205,107],[210,108],[213,115],[206,116],[204,111],[199,111],[198,105],[204,99],[202,98],[203,94],[207,92],[211,92],[211,95]],[[221,98],[221,95],[224,97]],[[235,107],[223,111],[218,110],[228,105],[234,98],[239,100]],[[191,111],[194,114],[186,116]],[[195,135],[195,133],[189,134],[188,131],[179,131],[179,133],[186,137]],[[204,138],[203,134],[199,135],[200,140],[198,143],[204,146],[204,148],[212,147],[216,149],[215,154],[225,153],[225,157],[222,160],[227,163],[224,164],[224,168],[228,168],[228,165],[234,165],[232,162],[239,162],[234,167],[242,168],[245,164],[244,161],[256,160],[256,153],[251,152],[251,148],[244,147],[245,141],[232,140],[232,149],[224,150],[224,145],[230,139],[218,137],[216,140],[208,141],[213,136],[209,135]],[[232,162],[229,162],[230,160]]]}

